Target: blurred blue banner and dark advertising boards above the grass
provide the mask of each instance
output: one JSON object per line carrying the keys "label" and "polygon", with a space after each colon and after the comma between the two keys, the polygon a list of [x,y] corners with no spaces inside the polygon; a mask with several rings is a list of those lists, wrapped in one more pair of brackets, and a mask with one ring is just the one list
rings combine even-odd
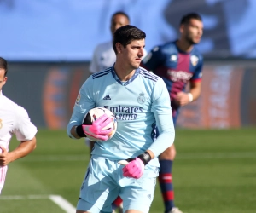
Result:
{"label": "blurred blue banner and dark advertising boards above the grass", "polygon": [[201,98],[183,107],[178,126],[256,124],[253,0],[0,1],[0,55],[9,60],[10,79],[4,94],[25,107],[38,127],[65,128],[79,87],[90,75],[93,49],[111,39],[109,20],[117,10],[147,33],[148,51],[178,36],[183,14],[201,14]]}

